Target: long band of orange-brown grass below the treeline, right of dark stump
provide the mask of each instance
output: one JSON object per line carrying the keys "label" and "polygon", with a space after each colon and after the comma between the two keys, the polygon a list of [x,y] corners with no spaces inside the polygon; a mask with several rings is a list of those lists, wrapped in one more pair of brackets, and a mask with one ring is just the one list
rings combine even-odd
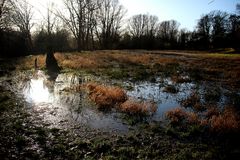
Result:
{"label": "long band of orange-brown grass below the treeline, right of dark stump", "polygon": [[161,57],[158,54],[129,53],[126,51],[92,51],[82,53],[55,53],[55,57],[62,67],[96,68],[111,67],[112,64],[149,65],[160,63],[175,63],[176,59]]}

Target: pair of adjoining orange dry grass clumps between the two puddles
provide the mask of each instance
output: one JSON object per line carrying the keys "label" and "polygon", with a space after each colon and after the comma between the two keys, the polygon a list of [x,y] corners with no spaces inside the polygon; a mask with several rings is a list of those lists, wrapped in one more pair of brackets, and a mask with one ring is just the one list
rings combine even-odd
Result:
{"label": "pair of adjoining orange dry grass clumps between the two puddles", "polygon": [[148,115],[156,112],[157,106],[153,102],[139,102],[129,99],[126,92],[114,86],[105,86],[97,83],[87,83],[77,89],[85,88],[89,98],[96,103],[99,109],[117,108],[130,114]]}

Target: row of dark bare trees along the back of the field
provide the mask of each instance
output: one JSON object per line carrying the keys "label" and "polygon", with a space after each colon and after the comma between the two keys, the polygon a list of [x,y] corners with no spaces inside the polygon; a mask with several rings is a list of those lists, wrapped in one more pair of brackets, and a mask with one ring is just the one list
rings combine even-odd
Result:
{"label": "row of dark bare trees along the back of the field", "polygon": [[188,31],[176,20],[160,22],[149,14],[126,20],[126,10],[118,0],[62,1],[63,8],[49,4],[36,24],[28,1],[0,0],[0,56],[49,50],[240,49],[239,4],[236,14],[212,11],[202,15],[195,30]]}

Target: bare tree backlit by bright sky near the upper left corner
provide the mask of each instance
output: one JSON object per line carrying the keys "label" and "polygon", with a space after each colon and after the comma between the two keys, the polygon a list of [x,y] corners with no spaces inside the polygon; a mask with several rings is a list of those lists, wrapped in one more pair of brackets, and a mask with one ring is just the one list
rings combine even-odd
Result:
{"label": "bare tree backlit by bright sky near the upper left corner", "polygon": [[13,24],[20,30],[26,40],[28,50],[32,50],[31,28],[33,23],[32,6],[26,1],[12,1],[13,15],[11,16]]}

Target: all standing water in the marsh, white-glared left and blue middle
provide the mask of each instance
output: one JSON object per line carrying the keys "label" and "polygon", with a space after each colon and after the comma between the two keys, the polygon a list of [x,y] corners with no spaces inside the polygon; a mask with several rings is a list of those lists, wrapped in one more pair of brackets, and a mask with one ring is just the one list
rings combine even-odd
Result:
{"label": "all standing water in the marsh, white-glared left and blue middle", "polygon": [[[21,81],[19,86],[26,101],[32,107],[32,112],[42,117],[53,127],[68,127],[69,125],[85,125],[94,129],[127,132],[129,125],[122,119],[122,114],[115,110],[102,112],[97,109],[88,99],[84,92],[65,92],[65,88],[95,80],[89,75],[76,75],[71,73],[59,74],[55,81],[49,81],[43,71],[38,71],[29,79]],[[157,111],[149,120],[160,121],[165,119],[165,113],[173,108],[179,107],[180,101],[189,97],[192,92],[200,94],[204,101],[206,88],[209,84],[181,83],[177,84],[170,79],[157,78],[155,83],[151,82],[124,82],[131,86],[127,91],[129,97],[139,100],[152,100],[157,103]],[[177,89],[175,93],[165,91],[165,87],[172,85]],[[212,86],[210,86],[210,89]],[[217,104],[224,104],[229,99],[226,90],[216,90],[221,94],[217,98]],[[239,102],[239,101],[237,101]]]}

